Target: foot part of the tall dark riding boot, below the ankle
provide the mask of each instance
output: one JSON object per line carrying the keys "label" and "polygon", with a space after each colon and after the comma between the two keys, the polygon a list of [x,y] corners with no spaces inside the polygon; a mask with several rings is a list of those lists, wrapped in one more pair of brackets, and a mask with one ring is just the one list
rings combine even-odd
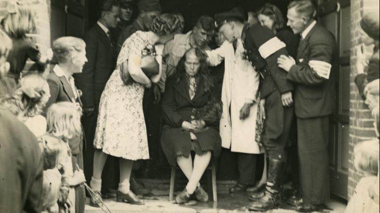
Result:
{"label": "foot part of the tall dark riding boot, below the ankle", "polygon": [[281,197],[278,192],[266,191],[265,195],[258,201],[252,202],[249,210],[266,212],[271,209],[277,209],[281,205]]}

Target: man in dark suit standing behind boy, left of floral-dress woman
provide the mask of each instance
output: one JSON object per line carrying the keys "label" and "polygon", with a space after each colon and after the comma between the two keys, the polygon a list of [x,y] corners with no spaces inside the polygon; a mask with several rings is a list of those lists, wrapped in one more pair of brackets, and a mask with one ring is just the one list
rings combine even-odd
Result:
{"label": "man in dark suit standing behind boy, left of floral-dress woman", "polygon": [[[90,182],[93,168],[94,148],[93,140],[96,129],[98,107],[100,97],[108,79],[116,66],[116,52],[111,42],[110,29],[115,28],[119,19],[119,3],[116,0],[103,0],[100,4],[99,19],[97,23],[84,35],[86,43],[86,57],[88,62],[84,64],[83,71],[75,75],[75,84],[83,95],[82,124],[87,143],[84,161],[84,173],[87,183]],[[103,188],[115,187],[114,182],[114,159],[108,159],[105,168],[110,171],[104,172]],[[116,182],[118,183],[118,182]],[[107,185],[105,185],[107,184]]]}

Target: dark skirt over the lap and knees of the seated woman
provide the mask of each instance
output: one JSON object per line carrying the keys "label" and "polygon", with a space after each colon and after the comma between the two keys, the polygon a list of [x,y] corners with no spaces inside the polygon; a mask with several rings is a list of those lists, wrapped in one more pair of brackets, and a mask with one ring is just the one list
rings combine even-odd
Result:
{"label": "dark skirt over the lap and knees of the seated woman", "polygon": [[177,156],[189,157],[190,151],[201,154],[211,151],[216,159],[222,149],[222,139],[218,130],[207,127],[205,130],[193,132],[197,140],[192,141],[190,131],[164,125],[161,134],[161,147],[170,165],[177,165]]}

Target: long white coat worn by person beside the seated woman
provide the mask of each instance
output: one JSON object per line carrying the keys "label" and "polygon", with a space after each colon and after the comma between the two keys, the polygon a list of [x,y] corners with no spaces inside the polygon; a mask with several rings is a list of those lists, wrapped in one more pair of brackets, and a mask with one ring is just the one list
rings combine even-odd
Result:
{"label": "long white coat worn by person beside the seated woman", "polygon": [[[208,62],[216,66],[225,60],[225,74],[222,86],[223,113],[220,120],[222,147],[232,152],[260,153],[255,140],[258,104],[256,92],[259,88],[259,73],[243,57],[243,44],[237,39],[236,51],[232,43],[225,41],[221,47],[206,51]],[[240,109],[245,103],[254,103],[250,114],[240,120]],[[231,115],[230,115],[231,113]]]}

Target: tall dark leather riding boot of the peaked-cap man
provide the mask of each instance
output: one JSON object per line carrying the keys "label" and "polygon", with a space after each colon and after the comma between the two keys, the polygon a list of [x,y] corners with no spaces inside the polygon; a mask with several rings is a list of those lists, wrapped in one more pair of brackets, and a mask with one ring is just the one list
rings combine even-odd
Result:
{"label": "tall dark leather riding boot of the peaked-cap man", "polygon": [[269,159],[266,191],[262,198],[252,202],[248,206],[249,210],[265,212],[275,209],[281,204],[280,186],[284,168],[285,162],[277,159]]}

